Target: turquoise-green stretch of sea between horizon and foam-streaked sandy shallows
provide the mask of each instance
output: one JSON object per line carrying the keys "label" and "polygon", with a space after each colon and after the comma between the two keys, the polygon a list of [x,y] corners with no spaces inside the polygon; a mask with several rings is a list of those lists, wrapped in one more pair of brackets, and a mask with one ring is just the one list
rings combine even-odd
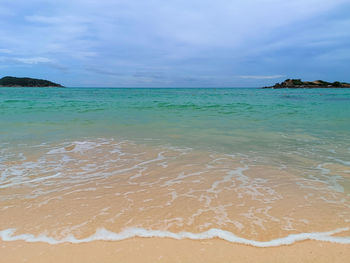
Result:
{"label": "turquoise-green stretch of sea between horizon and foam-streaked sandy shallows", "polygon": [[349,89],[1,88],[0,125],[12,145],[107,136],[350,160]]}

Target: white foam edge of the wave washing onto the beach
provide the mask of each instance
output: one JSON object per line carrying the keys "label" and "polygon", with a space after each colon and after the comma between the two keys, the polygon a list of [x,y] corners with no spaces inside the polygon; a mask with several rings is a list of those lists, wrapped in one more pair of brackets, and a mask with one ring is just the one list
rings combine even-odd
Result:
{"label": "white foam edge of the wave washing onto the beach", "polygon": [[122,232],[115,233],[104,228],[100,228],[96,231],[95,234],[90,237],[77,239],[74,235],[68,235],[62,239],[55,239],[53,237],[46,236],[44,234],[40,234],[38,236],[34,236],[32,234],[20,234],[14,235],[15,229],[6,229],[0,231],[0,238],[3,241],[26,241],[26,242],[44,242],[51,245],[62,244],[62,243],[87,243],[92,241],[121,241],[125,239],[130,239],[134,237],[141,238],[151,238],[151,237],[159,237],[159,238],[172,238],[172,239],[191,239],[191,240],[207,240],[213,238],[219,238],[226,240],[231,243],[238,243],[243,245],[250,245],[254,247],[278,247],[283,245],[291,245],[296,242],[305,241],[305,240],[316,240],[316,241],[324,241],[324,242],[332,242],[338,244],[350,244],[350,237],[339,237],[333,236],[334,234],[338,234],[341,232],[349,231],[349,227],[339,228],[333,231],[328,232],[314,232],[314,233],[299,233],[299,234],[291,234],[283,238],[272,239],[270,241],[255,241],[242,237],[238,237],[235,234],[222,230],[212,228],[208,231],[201,233],[191,233],[191,232],[179,232],[173,233],[169,231],[161,231],[161,230],[147,230],[144,228],[128,228]]}

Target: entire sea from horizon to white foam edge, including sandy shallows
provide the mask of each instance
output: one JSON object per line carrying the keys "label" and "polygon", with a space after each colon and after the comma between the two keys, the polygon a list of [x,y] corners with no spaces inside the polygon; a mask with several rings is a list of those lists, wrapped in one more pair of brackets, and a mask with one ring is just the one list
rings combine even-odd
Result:
{"label": "entire sea from horizon to white foam edge, including sandy shallows", "polygon": [[0,88],[0,238],[350,243],[350,89]]}

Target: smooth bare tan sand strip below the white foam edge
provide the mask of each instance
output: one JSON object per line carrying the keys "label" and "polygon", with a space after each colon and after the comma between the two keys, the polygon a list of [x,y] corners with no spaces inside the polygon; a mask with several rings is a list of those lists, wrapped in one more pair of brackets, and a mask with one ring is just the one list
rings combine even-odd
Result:
{"label": "smooth bare tan sand strip below the white foam edge", "polygon": [[256,248],[219,239],[194,241],[132,238],[117,242],[48,245],[22,241],[0,242],[1,262],[115,263],[115,262],[259,262],[344,263],[350,246],[304,241],[289,246]]}

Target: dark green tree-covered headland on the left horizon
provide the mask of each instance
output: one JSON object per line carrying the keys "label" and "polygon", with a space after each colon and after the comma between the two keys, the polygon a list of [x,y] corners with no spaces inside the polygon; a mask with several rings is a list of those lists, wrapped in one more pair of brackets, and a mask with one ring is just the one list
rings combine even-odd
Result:
{"label": "dark green tree-covered headland on the left horizon", "polygon": [[44,80],[32,78],[3,77],[0,79],[0,87],[62,87],[62,85]]}

